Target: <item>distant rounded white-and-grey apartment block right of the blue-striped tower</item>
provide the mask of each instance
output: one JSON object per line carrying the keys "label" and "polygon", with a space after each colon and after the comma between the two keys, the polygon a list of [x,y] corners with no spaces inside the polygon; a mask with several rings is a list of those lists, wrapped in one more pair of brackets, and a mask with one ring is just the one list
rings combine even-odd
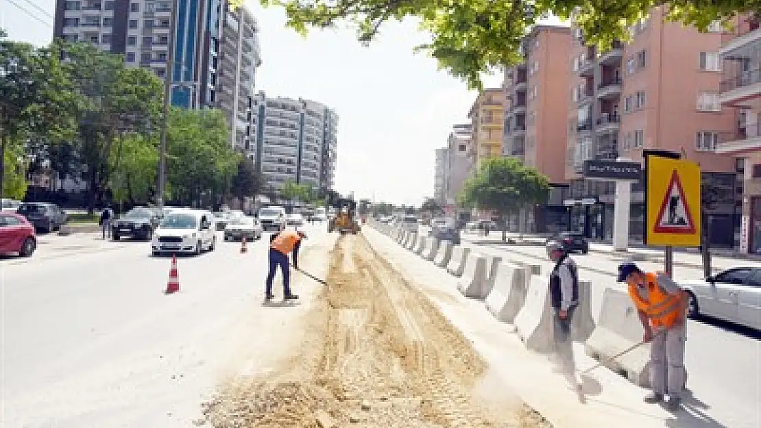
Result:
{"label": "distant rounded white-and-grey apartment block right of the blue-striped tower", "polygon": [[256,94],[254,162],[272,188],[284,182],[333,189],[338,116],[321,103]]}

